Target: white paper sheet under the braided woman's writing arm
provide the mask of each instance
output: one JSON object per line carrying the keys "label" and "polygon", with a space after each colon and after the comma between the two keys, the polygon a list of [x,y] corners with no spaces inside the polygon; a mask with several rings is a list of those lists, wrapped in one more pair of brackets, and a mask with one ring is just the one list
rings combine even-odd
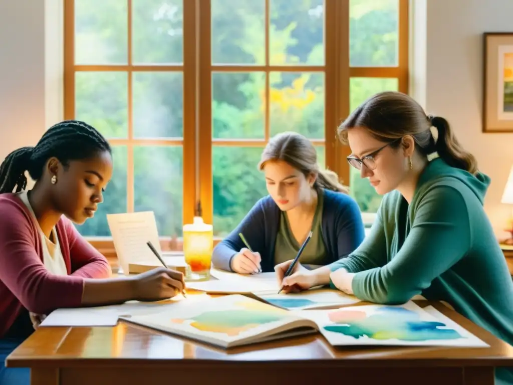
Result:
{"label": "white paper sheet under the braided woman's writing arm", "polygon": [[[203,296],[194,296],[203,297]],[[203,297],[205,298],[205,297]],[[78,307],[57,309],[50,313],[40,327],[45,326],[115,326],[120,316],[153,314],[172,308],[183,297],[176,296],[170,301],[139,302],[130,301],[120,305]],[[195,300],[200,298],[195,298]],[[187,298],[188,300],[188,298]]]}

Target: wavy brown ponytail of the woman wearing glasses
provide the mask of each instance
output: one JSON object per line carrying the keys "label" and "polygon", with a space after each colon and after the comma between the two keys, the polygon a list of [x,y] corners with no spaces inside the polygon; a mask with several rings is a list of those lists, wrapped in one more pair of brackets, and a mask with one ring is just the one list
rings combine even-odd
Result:
{"label": "wavy brown ponytail of the woman wearing glasses", "polygon": [[433,115],[428,115],[427,118],[429,123],[438,130],[438,140],[436,141],[435,149],[440,158],[452,167],[461,168],[473,175],[477,174],[478,163],[476,158],[470,152],[463,149],[452,134],[449,122],[444,118]]}

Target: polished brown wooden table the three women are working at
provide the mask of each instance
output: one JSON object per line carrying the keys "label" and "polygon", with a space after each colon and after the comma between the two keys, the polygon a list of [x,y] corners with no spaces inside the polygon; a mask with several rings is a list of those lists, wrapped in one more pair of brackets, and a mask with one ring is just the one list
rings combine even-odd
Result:
{"label": "polished brown wooden table the three women are working at", "polygon": [[40,328],[6,362],[31,368],[33,385],[283,385],[328,377],[359,385],[493,385],[495,367],[513,367],[508,344],[441,303],[416,302],[435,306],[490,348],[334,349],[318,334],[225,351],[120,323]]}

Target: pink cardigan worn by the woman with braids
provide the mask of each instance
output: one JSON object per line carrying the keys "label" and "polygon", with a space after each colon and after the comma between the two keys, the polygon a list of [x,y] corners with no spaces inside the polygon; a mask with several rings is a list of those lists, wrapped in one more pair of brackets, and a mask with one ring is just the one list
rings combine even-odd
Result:
{"label": "pink cardigan worn by the woman with braids", "polygon": [[107,278],[107,259],[64,216],[56,225],[68,276],[49,273],[43,245],[29,209],[15,194],[0,195],[0,337],[25,307],[48,314],[82,303],[84,278]]}

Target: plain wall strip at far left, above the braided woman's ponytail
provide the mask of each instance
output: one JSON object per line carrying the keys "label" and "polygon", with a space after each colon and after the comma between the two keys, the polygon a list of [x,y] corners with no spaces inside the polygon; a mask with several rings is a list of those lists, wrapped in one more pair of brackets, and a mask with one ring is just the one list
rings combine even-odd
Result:
{"label": "plain wall strip at far left, above the braided woman's ponytail", "polygon": [[0,159],[45,129],[45,3],[0,1]]}

